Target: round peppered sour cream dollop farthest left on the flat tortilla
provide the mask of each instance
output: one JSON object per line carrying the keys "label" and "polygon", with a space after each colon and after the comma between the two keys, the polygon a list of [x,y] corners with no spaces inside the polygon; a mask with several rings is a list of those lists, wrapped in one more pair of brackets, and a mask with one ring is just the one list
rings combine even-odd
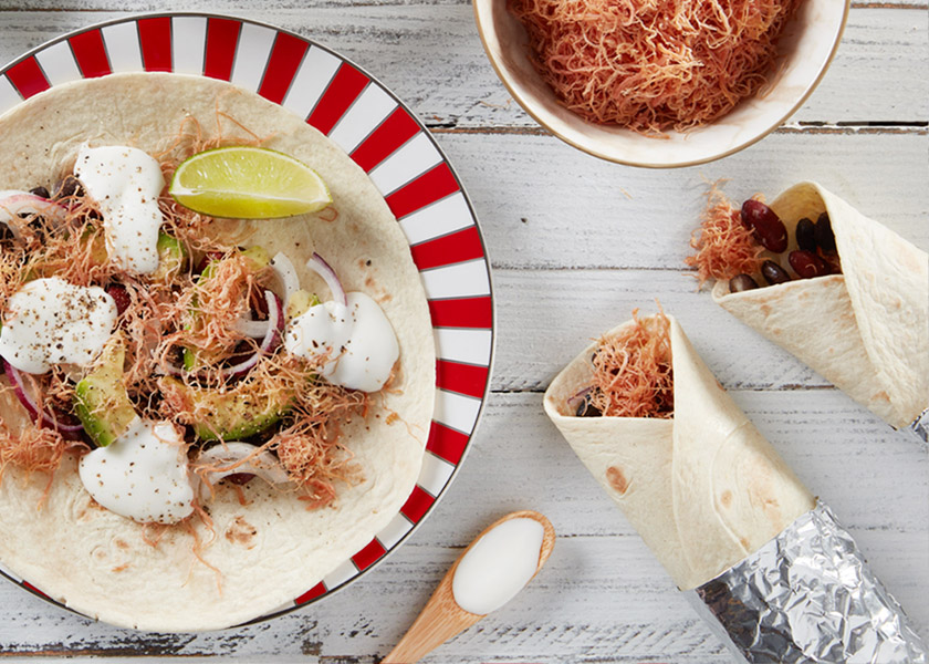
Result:
{"label": "round peppered sour cream dollop farthest left on the flat tortilla", "polygon": [[116,302],[102,288],[59,277],[25,283],[10,298],[0,330],[0,355],[20,371],[87,364],[116,325]]}

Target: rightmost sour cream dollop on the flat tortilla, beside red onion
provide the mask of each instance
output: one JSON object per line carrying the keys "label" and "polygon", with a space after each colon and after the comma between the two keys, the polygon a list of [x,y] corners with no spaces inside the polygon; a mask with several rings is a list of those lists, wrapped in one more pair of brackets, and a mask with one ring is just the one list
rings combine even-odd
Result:
{"label": "rightmost sour cream dollop on the flat tortilla, beside red onion", "polygon": [[390,377],[400,346],[377,302],[347,293],[347,307],[323,302],[293,319],[284,332],[289,353],[309,360],[326,357],[320,373],[349,390],[377,392]]}

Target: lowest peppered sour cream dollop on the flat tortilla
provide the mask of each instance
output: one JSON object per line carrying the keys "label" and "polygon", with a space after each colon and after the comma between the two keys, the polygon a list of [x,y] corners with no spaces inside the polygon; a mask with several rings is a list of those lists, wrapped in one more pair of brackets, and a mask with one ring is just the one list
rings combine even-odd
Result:
{"label": "lowest peppered sour cream dollop on the flat tortilla", "polygon": [[176,523],[194,512],[187,447],[170,422],[136,418],[112,445],[85,455],[79,474],[94,500],[140,523]]}

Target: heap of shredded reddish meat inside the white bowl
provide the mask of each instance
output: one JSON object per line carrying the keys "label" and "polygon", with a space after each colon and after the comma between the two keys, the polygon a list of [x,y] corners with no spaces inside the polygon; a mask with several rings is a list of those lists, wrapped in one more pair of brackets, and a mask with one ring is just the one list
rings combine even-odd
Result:
{"label": "heap of shredded reddish meat inside the white bowl", "polygon": [[561,102],[596,123],[660,135],[759,94],[802,0],[508,0]]}

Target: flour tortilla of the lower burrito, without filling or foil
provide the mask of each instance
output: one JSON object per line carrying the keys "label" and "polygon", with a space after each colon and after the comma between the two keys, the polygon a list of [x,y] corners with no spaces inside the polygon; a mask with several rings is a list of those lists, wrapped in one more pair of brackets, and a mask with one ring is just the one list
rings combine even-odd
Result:
{"label": "flour tortilla of the lower burrito, without filling or foil", "polygon": [[678,588],[690,590],[756,551],[814,499],[668,318],[674,418],[576,417],[567,402],[589,385],[597,343],[555,377],[544,403]]}

